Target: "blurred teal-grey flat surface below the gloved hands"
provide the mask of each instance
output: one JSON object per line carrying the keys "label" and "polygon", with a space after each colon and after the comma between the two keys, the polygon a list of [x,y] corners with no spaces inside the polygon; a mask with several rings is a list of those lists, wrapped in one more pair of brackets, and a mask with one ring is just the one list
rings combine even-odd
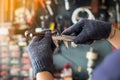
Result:
{"label": "blurred teal-grey flat surface below the gloved hands", "polygon": [[71,47],[69,42],[69,48],[67,49],[64,44],[60,46],[61,51],[54,54],[54,64],[56,69],[62,69],[66,63],[70,63],[73,73],[77,73],[78,66],[82,67],[81,75],[83,76],[82,80],[85,80],[87,76],[87,62],[86,53],[90,48],[94,49],[94,52],[98,54],[98,59],[95,61],[96,68],[103,59],[112,51],[112,45],[107,40],[98,40],[94,43],[88,44],[79,44],[77,48]]}

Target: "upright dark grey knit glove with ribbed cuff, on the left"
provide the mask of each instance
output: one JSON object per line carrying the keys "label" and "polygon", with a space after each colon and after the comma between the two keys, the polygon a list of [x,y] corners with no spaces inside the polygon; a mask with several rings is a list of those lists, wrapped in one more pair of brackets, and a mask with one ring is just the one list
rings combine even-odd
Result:
{"label": "upright dark grey knit glove with ribbed cuff, on the left", "polygon": [[38,72],[53,72],[53,51],[55,44],[52,41],[50,31],[45,33],[43,38],[35,36],[28,46],[28,53],[32,63],[33,71],[36,75]]}

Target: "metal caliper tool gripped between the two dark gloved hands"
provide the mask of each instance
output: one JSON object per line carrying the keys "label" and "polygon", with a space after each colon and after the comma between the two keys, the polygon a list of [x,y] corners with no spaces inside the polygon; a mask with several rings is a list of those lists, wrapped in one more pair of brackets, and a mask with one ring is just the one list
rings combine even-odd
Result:
{"label": "metal caliper tool gripped between the two dark gloved hands", "polygon": [[[73,42],[73,40],[75,39],[75,36],[56,35],[56,33],[57,33],[56,31],[51,32],[51,35],[52,35],[53,41],[57,46],[59,46],[58,41],[63,41],[65,44],[65,47],[68,48],[68,42]],[[44,35],[45,35],[45,32],[29,32],[29,31],[25,32],[25,37],[28,39],[31,39],[34,36],[44,37]]]}

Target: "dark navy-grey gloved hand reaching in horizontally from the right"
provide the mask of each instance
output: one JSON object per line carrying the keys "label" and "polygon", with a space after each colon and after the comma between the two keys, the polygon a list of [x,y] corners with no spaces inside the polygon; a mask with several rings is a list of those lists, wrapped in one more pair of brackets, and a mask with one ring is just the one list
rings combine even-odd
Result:
{"label": "dark navy-grey gloved hand reaching in horizontally from the right", "polygon": [[76,44],[85,44],[107,38],[111,32],[111,24],[99,20],[81,19],[62,32],[63,35],[75,35]]}

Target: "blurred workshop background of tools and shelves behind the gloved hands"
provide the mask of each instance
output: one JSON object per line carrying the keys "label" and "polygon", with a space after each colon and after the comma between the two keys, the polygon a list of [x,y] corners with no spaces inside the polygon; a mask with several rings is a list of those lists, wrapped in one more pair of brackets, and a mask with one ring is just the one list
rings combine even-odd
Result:
{"label": "blurred workshop background of tools and shelves behind the gloved hands", "polygon": [[[0,80],[33,80],[27,45],[31,39],[24,34],[44,29],[61,32],[81,18],[113,23],[120,29],[120,0],[0,0]],[[106,40],[77,48],[58,42],[54,54],[55,80],[64,68],[71,68],[73,80],[86,80],[86,53],[92,47],[100,58],[113,49]],[[81,79],[78,79],[82,76]],[[67,80],[67,79],[66,79]]]}

